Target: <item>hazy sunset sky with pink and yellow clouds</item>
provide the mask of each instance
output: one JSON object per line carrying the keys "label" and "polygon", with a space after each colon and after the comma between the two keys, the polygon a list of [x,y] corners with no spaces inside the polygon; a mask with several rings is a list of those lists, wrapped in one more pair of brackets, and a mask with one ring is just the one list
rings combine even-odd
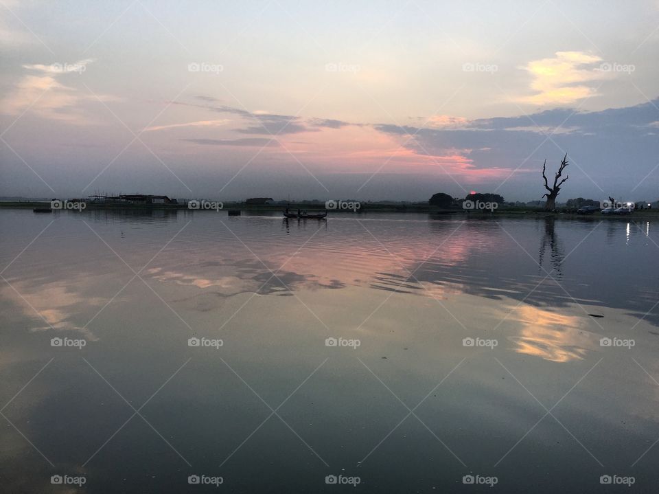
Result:
{"label": "hazy sunset sky with pink and yellow clouds", "polygon": [[659,0],[0,0],[0,197],[659,199]]}

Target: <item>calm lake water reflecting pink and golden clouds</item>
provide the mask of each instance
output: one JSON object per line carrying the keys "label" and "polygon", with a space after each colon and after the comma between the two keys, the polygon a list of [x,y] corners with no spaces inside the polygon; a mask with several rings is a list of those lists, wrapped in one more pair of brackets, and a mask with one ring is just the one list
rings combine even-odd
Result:
{"label": "calm lake water reflecting pink and golden clouds", "polygon": [[3,491],[657,488],[656,223],[4,210],[0,227]]}

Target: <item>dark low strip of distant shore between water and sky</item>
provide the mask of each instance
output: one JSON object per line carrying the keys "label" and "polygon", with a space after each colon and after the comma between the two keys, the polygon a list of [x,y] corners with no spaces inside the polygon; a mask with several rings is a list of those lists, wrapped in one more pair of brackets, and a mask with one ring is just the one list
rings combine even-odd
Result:
{"label": "dark low strip of distant shore between water and sky", "polygon": [[[34,209],[34,208],[49,208],[48,201],[0,201],[0,208],[5,209]],[[223,210],[240,210],[244,212],[279,212],[284,210],[285,206],[281,204],[265,204],[253,205],[245,203],[224,203]],[[309,212],[325,210],[324,205],[319,203],[290,203],[290,210],[307,210]],[[156,210],[189,210],[187,204],[116,204],[116,203],[86,203],[84,211],[89,210],[126,210],[126,211],[156,211]],[[57,211],[57,210],[54,210]],[[203,210],[198,210],[203,212]],[[212,210],[215,212],[215,210]],[[349,214],[350,216],[360,216],[369,213],[428,213],[435,214],[437,217],[450,217],[450,216],[466,216],[468,218],[492,218],[492,217],[514,217],[514,218],[603,218],[603,219],[620,219],[620,218],[636,218],[636,219],[654,219],[659,218],[659,210],[636,210],[629,216],[616,216],[616,215],[603,215],[599,212],[594,214],[582,215],[576,214],[570,210],[559,209],[557,212],[546,212],[540,208],[533,207],[500,207],[494,212],[487,210],[458,210],[458,209],[442,209],[436,206],[428,205],[427,203],[406,203],[406,204],[378,204],[378,203],[362,203],[362,208],[356,212],[351,210],[329,210],[329,216],[332,214],[340,213]]]}

